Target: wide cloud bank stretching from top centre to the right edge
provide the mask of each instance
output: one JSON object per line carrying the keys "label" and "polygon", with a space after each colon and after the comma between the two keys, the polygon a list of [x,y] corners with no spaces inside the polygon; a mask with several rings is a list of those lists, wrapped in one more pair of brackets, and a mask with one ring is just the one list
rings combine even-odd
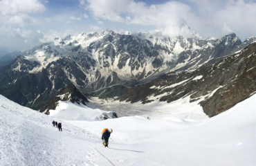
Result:
{"label": "wide cloud bank stretching from top centre to the right edge", "polygon": [[[80,1],[81,2],[81,1]],[[125,24],[155,26],[165,35],[190,35],[186,24],[203,37],[235,32],[244,37],[255,34],[256,3],[249,0],[167,1],[147,5],[134,0],[86,0],[80,7],[94,19]]]}

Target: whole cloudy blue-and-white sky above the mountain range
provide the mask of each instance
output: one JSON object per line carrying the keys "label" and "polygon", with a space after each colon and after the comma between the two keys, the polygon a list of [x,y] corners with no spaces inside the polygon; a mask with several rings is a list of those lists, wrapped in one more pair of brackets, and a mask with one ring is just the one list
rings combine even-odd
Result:
{"label": "whole cloudy blue-and-white sky above the mountain range", "polygon": [[184,23],[203,39],[236,33],[244,40],[256,36],[255,17],[253,0],[0,0],[0,51],[107,28],[172,37],[183,35]]}

